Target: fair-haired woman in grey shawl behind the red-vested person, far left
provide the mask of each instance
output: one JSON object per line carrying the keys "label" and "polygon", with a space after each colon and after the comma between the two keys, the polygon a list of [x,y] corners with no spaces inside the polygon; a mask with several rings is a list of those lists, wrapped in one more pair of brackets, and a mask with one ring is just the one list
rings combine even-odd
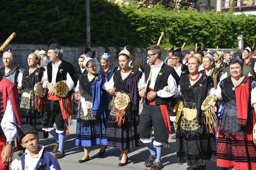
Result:
{"label": "fair-haired woman in grey shawl behind the red-vested person, far left", "polygon": [[21,89],[22,72],[16,67],[12,66],[13,53],[10,50],[3,53],[3,63],[5,67],[0,68],[0,76],[5,77],[18,86],[18,90]]}

